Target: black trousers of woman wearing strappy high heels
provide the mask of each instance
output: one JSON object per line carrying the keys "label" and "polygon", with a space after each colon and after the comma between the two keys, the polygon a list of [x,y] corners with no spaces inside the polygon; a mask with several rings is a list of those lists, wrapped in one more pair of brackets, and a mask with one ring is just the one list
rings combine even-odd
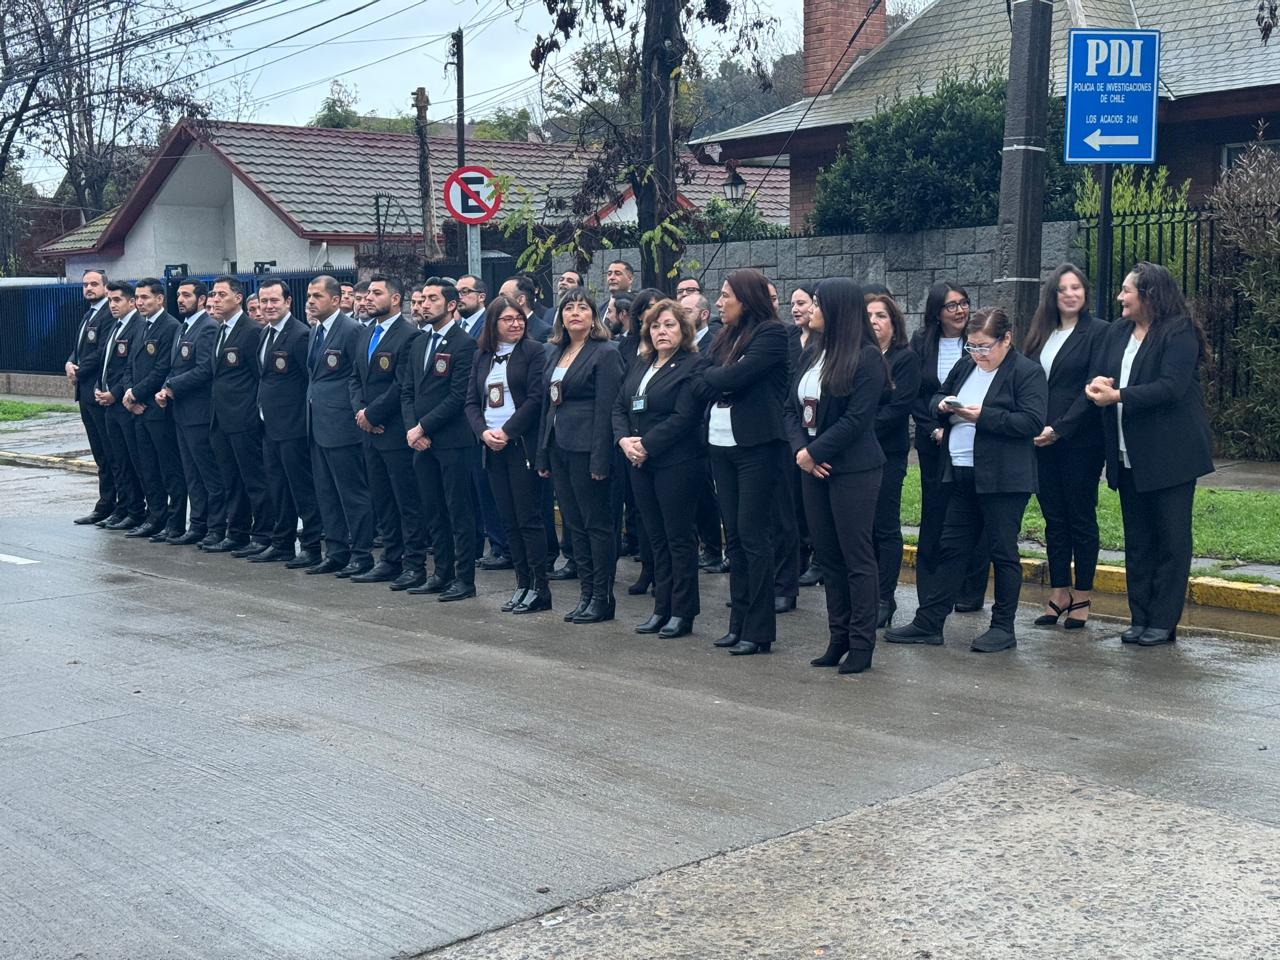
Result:
{"label": "black trousers of woman wearing strappy high heels", "polygon": [[1041,513],[1044,515],[1044,545],[1048,552],[1050,586],[1092,590],[1098,567],[1098,477],[1102,447],[1050,444],[1036,449]]}

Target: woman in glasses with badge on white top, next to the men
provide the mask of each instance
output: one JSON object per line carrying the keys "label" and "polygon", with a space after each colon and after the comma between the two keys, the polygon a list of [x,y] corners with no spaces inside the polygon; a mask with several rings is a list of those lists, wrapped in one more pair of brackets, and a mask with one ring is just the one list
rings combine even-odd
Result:
{"label": "woman in glasses with badge on white top, next to the men", "polygon": [[476,347],[467,420],[481,443],[489,486],[516,568],[516,593],[502,609],[549,611],[547,531],[534,470],[545,348],[529,337],[525,311],[507,297],[497,297],[485,310]]}

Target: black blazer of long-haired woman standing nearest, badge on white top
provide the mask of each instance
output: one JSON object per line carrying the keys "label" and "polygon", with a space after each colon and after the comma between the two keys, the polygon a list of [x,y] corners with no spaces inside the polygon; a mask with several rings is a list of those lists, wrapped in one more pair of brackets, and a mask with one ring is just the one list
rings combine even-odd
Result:
{"label": "black blazer of long-haired woman standing nearest, badge on white top", "polygon": [[[808,360],[808,357],[805,357]],[[791,452],[809,451],[818,463],[829,463],[832,472],[854,474],[874,470],[884,463],[884,453],[876,439],[876,410],[884,393],[884,360],[879,347],[864,343],[858,355],[852,389],[842,397],[823,390],[818,398],[818,433],[804,429],[804,404],[799,387],[805,362],[796,365],[787,390],[787,436]]]}

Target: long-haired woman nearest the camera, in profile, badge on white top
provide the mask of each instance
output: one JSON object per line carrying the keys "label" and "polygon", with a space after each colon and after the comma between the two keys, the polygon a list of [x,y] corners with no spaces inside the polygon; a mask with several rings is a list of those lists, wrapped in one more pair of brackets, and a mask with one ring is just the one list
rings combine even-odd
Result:
{"label": "long-haired woman nearest the camera, in profile, badge on white top", "polygon": [[823,280],[787,392],[786,424],[827,591],[827,652],[812,663],[835,667],[844,658],[841,673],[861,673],[876,649],[872,530],[884,465],[876,408],[887,381],[861,287],[842,276]]}

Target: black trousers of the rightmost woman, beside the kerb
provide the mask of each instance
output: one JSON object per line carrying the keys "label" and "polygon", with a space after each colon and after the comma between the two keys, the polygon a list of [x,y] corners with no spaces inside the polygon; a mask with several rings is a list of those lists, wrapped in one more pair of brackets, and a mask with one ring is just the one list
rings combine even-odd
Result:
{"label": "black trousers of the rightmost woman, beside the kerb", "polygon": [[1196,481],[1138,493],[1120,470],[1125,593],[1137,626],[1172,630],[1187,604]]}

